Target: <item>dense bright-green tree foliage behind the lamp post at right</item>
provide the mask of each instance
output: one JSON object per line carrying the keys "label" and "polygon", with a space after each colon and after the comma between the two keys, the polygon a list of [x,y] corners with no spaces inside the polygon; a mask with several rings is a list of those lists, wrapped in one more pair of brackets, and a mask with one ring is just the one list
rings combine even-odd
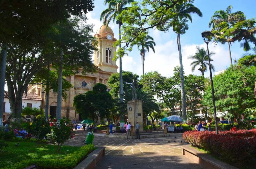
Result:
{"label": "dense bright-green tree foliage behind the lamp post at right", "polygon": [[[216,109],[228,111],[240,123],[241,115],[246,108],[256,106],[254,97],[254,81],[256,78],[256,67],[234,66],[225,72],[214,76],[213,85],[216,101]],[[203,105],[213,112],[211,86],[205,91]]]}

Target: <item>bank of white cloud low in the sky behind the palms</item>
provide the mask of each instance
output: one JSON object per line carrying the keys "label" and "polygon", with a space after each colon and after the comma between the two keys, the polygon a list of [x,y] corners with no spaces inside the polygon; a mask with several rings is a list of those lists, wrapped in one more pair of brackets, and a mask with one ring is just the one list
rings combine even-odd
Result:
{"label": "bank of white cloud low in the sky behind the palms", "polygon": [[[191,73],[196,75],[201,74],[201,72],[197,69],[194,72],[191,71],[190,63],[192,62],[192,60],[188,59],[188,56],[193,55],[196,52],[196,46],[204,47],[206,49],[205,43],[182,45],[182,62],[185,75]],[[229,52],[226,45],[218,44],[214,47],[214,44],[210,43],[209,50],[216,53],[212,56],[214,62],[211,62],[215,66],[216,71],[226,69],[230,65]],[[139,54],[136,51],[133,51],[132,53],[133,57],[125,56],[123,58],[123,70],[132,71],[134,73],[141,75],[142,65]],[[231,54],[232,58],[239,57],[239,55],[236,53]],[[134,57],[136,55],[138,56]],[[157,43],[157,45],[155,46],[155,53],[150,51],[145,55],[145,73],[149,71],[158,71],[161,75],[169,77],[173,75],[173,69],[177,65],[179,65],[179,52],[177,50],[176,40],[170,40],[162,44]],[[209,70],[205,73],[205,76],[209,76]]]}

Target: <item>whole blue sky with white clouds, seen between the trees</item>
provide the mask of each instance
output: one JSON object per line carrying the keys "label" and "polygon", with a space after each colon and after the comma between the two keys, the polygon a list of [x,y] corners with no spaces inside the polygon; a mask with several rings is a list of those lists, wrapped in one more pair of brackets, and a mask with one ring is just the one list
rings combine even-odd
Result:
{"label": "whole blue sky with white clouds, seen between the trees", "polygon": [[[96,32],[102,25],[102,22],[99,20],[100,13],[107,8],[107,6],[103,5],[103,2],[104,0],[95,0],[94,10],[87,14],[88,23],[95,25],[94,32]],[[196,46],[204,46],[206,48],[206,44],[204,44],[201,37],[201,32],[210,30],[210,28],[208,28],[208,23],[215,11],[220,9],[225,10],[229,5],[232,5],[232,12],[242,11],[247,16],[247,19],[256,17],[256,0],[195,0],[194,5],[201,10],[203,17],[200,18],[196,15],[192,15],[193,23],[189,23],[189,30],[186,34],[181,35],[182,58],[185,75],[190,73],[200,75],[200,72],[197,69],[194,72],[191,71],[191,60],[187,59],[187,57],[196,52]],[[115,38],[118,38],[118,26],[113,25],[113,22],[109,26],[114,31]],[[150,30],[150,36],[155,39],[156,52],[146,53],[144,62],[145,72],[156,70],[164,76],[171,76],[173,74],[173,68],[179,64],[176,34],[173,33],[172,30],[167,33]],[[212,57],[214,60],[212,63],[215,66],[216,71],[226,69],[230,65],[227,44],[218,43],[214,46],[214,44],[210,42],[209,50],[216,53]],[[243,53],[244,51],[240,47],[239,42],[232,43],[231,55],[233,60],[240,58]],[[134,47],[133,51],[129,52],[128,56],[123,58],[123,70],[132,71],[138,75],[142,74],[141,58],[137,47]],[[209,71],[206,72],[206,76],[208,75]]]}

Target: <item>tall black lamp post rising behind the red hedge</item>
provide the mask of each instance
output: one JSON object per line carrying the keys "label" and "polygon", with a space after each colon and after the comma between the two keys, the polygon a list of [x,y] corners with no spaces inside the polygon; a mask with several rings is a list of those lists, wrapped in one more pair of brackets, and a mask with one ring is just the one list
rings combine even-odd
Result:
{"label": "tall black lamp post rising behind the red hedge", "polygon": [[213,88],[213,81],[212,81],[212,67],[210,63],[210,54],[209,54],[209,48],[208,48],[208,43],[210,42],[210,36],[211,36],[211,31],[204,31],[202,32],[202,37],[204,42],[207,45],[207,52],[208,52],[208,61],[209,61],[209,71],[210,71],[210,79],[211,79],[211,86],[212,86],[212,101],[213,101],[213,110],[214,110],[214,116],[215,116],[215,131],[216,134],[219,134],[218,131],[218,121],[217,121],[217,115],[216,115],[216,107],[215,107],[215,97],[214,97],[214,88]]}

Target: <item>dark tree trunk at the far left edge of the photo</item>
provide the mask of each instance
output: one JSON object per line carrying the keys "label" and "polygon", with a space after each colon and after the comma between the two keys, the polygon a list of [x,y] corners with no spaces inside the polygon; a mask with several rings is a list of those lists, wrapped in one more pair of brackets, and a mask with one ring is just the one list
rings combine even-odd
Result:
{"label": "dark tree trunk at the far left edge of the photo", "polygon": [[4,84],[5,84],[5,68],[7,57],[7,45],[3,43],[3,54],[1,58],[0,70],[0,127],[3,126],[3,110],[4,110]]}

